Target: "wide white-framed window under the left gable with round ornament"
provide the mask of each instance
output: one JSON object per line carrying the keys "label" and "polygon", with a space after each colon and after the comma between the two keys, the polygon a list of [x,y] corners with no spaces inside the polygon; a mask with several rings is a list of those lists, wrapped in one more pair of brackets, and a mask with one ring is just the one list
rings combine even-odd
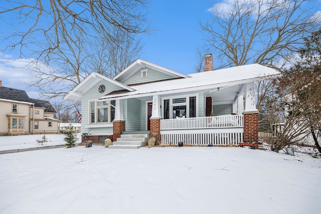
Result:
{"label": "wide white-framed window under the left gable with round ornament", "polygon": [[115,100],[90,102],[90,123],[112,122],[115,118]]}

